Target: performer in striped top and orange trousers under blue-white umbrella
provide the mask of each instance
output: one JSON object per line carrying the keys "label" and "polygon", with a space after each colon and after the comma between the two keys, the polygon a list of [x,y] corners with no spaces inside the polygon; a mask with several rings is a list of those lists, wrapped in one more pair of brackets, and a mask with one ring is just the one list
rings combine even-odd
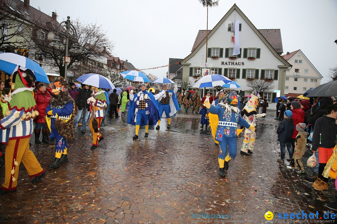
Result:
{"label": "performer in striped top and orange trousers under blue-white umbrella", "polygon": [[92,86],[91,89],[94,95],[87,99],[87,103],[90,104],[88,121],[90,121],[89,127],[92,133],[92,146],[90,149],[96,149],[98,143],[103,140],[99,129],[104,118],[104,109],[106,109],[107,105],[105,91],[95,86]]}

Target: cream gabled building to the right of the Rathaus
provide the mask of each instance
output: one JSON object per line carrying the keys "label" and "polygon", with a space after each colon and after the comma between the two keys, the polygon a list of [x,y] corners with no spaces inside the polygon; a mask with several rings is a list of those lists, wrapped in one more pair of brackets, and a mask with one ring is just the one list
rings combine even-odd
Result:
{"label": "cream gabled building to the right of the Rathaus", "polygon": [[293,66],[285,72],[284,94],[297,97],[320,85],[323,76],[301,50],[287,52],[282,57]]}

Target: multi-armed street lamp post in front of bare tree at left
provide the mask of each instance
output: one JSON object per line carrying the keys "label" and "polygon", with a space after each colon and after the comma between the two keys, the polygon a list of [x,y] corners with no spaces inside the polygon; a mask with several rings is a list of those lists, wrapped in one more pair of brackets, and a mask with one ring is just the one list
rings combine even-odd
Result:
{"label": "multi-armed street lamp post in front of bare tree at left", "polygon": [[[64,33],[62,28],[66,28],[66,32]],[[75,34],[75,37],[72,37],[70,35],[69,31],[72,31],[73,34]],[[62,44],[59,34],[62,34],[65,36],[65,45]],[[68,62],[70,62],[70,59],[68,57],[68,44],[69,44],[69,38],[73,38],[76,40],[76,42],[78,41],[77,38],[77,33],[76,33],[76,29],[75,27],[70,23],[70,16],[67,16],[67,20],[63,21],[60,23],[59,27],[57,28],[57,35],[54,38],[53,42],[50,43],[49,45],[56,47],[56,48],[64,48],[65,47],[65,57],[64,57],[64,79],[66,82],[68,82],[68,75],[67,75],[67,69],[68,69]],[[70,48],[69,50],[70,52],[74,52],[74,53],[81,53],[83,52],[81,50],[81,47],[78,43],[75,43],[72,48]]]}

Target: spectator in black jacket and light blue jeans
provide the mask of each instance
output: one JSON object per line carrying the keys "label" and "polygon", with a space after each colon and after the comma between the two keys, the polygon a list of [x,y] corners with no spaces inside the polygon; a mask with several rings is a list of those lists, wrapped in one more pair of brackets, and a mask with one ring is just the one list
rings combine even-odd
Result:
{"label": "spectator in black jacket and light blue jeans", "polygon": [[[77,124],[79,124],[79,126],[82,126],[81,131],[82,134],[85,133],[85,129],[87,127],[87,117],[89,113],[88,108],[90,106],[87,103],[87,99],[91,96],[91,94],[92,90],[90,89],[89,85],[83,85],[83,87],[79,89],[79,92],[76,95],[75,103],[76,106],[79,108],[79,111],[77,116],[75,117],[74,126],[76,127]],[[82,116],[83,116],[82,123],[79,123]]]}

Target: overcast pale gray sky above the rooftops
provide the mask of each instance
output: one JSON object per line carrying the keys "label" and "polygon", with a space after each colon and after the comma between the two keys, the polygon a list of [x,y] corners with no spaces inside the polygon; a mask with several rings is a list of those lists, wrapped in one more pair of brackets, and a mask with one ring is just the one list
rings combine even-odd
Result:
{"label": "overcast pale gray sky above the rooftops", "polygon": [[[220,0],[209,9],[212,29],[236,3],[257,29],[281,29],[284,54],[301,49],[328,81],[329,68],[337,64],[336,0]],[[32,0],[46,14],[68,15],[84,23],[102,25],[115,43],[112,52],[136,68],[168,64],[168,58],[190,54],[198,30],[206,30],[206,8],[198,0]],[[157,77],[166,68],[146,70]]]}

